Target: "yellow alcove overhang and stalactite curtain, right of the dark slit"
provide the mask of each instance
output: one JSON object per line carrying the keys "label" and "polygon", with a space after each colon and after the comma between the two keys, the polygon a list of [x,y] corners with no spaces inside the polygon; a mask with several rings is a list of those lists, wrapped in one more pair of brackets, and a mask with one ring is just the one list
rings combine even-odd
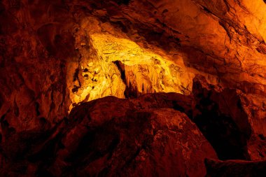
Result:
{"label": "yellow alcove overhang and stalactite curtain, right of the dark slit", "polygon": [[97,54],[105,62],[120,61],[125,64],[126,84],[128,86],[130,83],[136,83],[134,86],[139,92],[182,93],[181,85],[192,86],[183,82],[183,77],[177,76],[182,72],[181,68],[178,72],[172,72],[175,69],[172,62],[155,52],[141,48],[133,41],[108,34],[93,34],[91,38]]}

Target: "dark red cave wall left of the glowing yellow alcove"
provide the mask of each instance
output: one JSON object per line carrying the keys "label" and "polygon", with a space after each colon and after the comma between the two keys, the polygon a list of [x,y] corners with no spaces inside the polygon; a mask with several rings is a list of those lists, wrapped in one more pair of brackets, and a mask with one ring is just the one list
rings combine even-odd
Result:
{"label": "dark red cave wall left of the glowing yellow alcove", "polygon": [[45,129],[66,116],[66,61],[76,55],[72,22],[59,1],[1,1],[3,137]]}

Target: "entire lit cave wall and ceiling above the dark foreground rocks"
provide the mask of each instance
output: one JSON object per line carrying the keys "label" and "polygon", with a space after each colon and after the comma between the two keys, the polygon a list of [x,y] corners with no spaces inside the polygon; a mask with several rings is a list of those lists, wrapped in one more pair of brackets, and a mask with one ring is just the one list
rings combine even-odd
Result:
{"label": "entire lit cave wall and ceiling above the dark foreground rocks", "polygon": [[[253,124],[260,127],[265,17],[258,7],[264,6],[262,1],[253,6],[247,1],[3,1],[1,116],[10,127],[18,127],[15,117],[29,122],[22,129],[38,127],[36,117],[57,122],[73,106],[108,95],[190,94],[200,74],[208,83],[261,97],[262,116]],[[34,111],[26,113],[27,108]]]}

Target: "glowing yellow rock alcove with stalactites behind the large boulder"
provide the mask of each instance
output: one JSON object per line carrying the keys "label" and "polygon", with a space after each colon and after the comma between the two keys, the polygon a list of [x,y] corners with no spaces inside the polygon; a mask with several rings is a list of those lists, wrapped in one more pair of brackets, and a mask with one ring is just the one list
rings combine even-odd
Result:
{"label": "glowing yellow rock alcove with stalactites behind the large boulder", "polygon": [[[97,29],[97,22],[87,29],[90,40],[76,38],[76,45],[83,53],[78,66],[78,79],[69,82],[73,104],[90,101],[109,95],[125,98],[127,87],[133,87],[139,94],[148,92],[177,92],[190,94],[194,74],[156,51],[143,48],[118,32],[110,34]],[[91,29],[90,29],[91,28]],[[110,27],[109,27],[110,29]],[[81,36],[81,35],[80,35]],[[87,45],[81,45],[88,43]],[[115,64],[120,62],[123,71]],[[77,67],[77,66],[75,66]],[[74,73],[69,66],[69,73]],[[72,70],[72,71],[71,71]],[[76,70],[75,70],[76,71]],[[125,73],[124,80],[121,72]],[[71,77],[71,76],[69,76]],[[70,109],[73,105],[70,106]]]}

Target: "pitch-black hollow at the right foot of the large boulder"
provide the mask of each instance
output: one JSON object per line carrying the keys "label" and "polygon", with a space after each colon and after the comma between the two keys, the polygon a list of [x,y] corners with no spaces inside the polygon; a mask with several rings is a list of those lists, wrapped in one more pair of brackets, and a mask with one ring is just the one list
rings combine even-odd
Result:
{"label": "pitch-black hollow at the right foot of the large boulder", "polygon": [[248,160],[246,139],[232,118],[216,111],[202,110],[195,118],[196,125],[216,150],[221,160]]}

